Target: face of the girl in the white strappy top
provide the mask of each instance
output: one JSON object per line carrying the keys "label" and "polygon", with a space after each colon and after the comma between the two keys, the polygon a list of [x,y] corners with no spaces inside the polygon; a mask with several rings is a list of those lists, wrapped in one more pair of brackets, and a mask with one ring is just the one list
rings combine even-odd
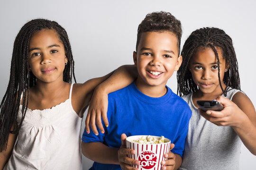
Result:
{"label": "face of the girl in the white strappy top", "polygon": [[28,64],[38,83],[63,81],[66,62],[64,45],[54,30],[43,29],[33,34],[29,42]]}

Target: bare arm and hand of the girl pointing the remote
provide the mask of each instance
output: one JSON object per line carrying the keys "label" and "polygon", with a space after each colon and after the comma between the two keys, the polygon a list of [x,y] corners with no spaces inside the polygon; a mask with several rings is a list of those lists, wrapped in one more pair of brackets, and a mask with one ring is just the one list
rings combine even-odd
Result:
{"label": "bare arm and hand of the girl pointing the remote", "polygon": [[200,110],[201,115],[218,126],[231,126],[247,149],[256,155],[256,111],[250,99],[238,92],[233,102],[221,96],[216,100],[224,105],[224,109],[206,113]]}

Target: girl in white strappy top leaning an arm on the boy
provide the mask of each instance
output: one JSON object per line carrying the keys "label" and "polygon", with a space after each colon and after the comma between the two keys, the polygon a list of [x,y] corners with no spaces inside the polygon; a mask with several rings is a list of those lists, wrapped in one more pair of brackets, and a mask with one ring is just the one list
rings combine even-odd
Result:
{"label": "girl in white strappy top leaning an arm on the boy", "polygon": [[103,81],[112,84],[110,92],[128,85],[129,67],[72,84],[74,61],[64,28],[46,19],[27,22],[14,42],[0,104],[0,169],[81,170],[83,112]]}

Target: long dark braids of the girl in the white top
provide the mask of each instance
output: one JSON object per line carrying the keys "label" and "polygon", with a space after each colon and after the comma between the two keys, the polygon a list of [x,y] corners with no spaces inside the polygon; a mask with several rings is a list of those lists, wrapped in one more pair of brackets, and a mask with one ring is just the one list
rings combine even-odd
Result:
{"label": "long dark braids of the girl in the white top", "polygon": [[[55,21],[46,19],[33,19],[20,29],[13,46],[9,84],[0,104],[0,152],[6,150],[9,133],[17,134],[28,106],[29,88],[37,84],[37,78],[29,71],[28,46],[29,40],[36,31],[42,29],[55,30],[64,44],[65,55],[68,59],[63,72],[63,80],[71,83],[74,76],[74,61],[68,35],[64,28]],[[22,100],[22,117],[19,125],[16,124],[18,110]],[[11,129],[12,125],[14,128]]]}

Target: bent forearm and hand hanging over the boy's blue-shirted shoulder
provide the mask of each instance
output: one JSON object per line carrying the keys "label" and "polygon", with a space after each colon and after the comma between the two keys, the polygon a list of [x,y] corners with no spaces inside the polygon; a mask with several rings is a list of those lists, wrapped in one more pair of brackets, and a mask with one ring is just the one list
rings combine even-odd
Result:
{"label": "bent forearm and hand hanging over the boy's blue-shirted shoulder", "polygon": [[104,133],[104,128],[101,123],[101,116],[108,127],[107,110],[108,110],[108,94],[117,91],[131,84],[137,77],[137,68],[134,65],[125,65],[119,67],[112,76],[106,81],[98,85],[91,98],[91,103],[85,119],[85,128],[87,133],[90,133],[90,125],[92,131],[98,135],[98,130],[95,125],[98,125],[101,133]]}

